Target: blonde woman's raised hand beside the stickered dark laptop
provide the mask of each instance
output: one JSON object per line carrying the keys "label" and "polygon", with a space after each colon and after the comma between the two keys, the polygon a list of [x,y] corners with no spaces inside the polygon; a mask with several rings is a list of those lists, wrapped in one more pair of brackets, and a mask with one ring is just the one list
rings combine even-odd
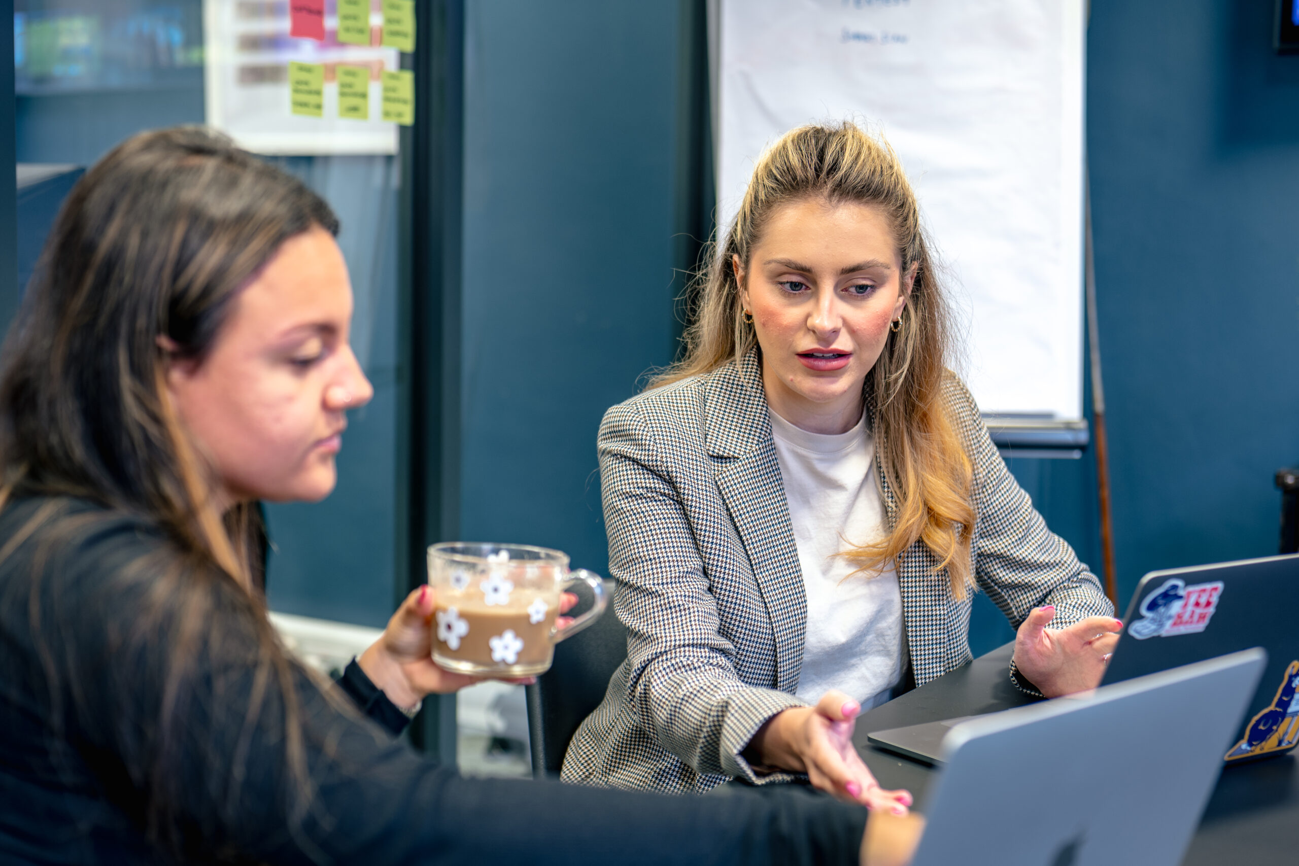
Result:
{"label": "blonde woman's raised hand beside the stickered dark laptop", "polygon": [[1064,628],[1047,628],[1055,606],[1034,608],[1015,635],[1015,666],[1047,697],[1100,686],[1124,623],[1087,617]]}

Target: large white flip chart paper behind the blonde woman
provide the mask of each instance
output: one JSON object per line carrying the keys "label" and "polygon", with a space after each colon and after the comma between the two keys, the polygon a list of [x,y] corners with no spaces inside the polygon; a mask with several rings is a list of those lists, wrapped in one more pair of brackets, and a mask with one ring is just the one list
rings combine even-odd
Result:
{"label": "large white flip chart paper behind the blonde woman", "polygon": [[855,118],[902,157],[985,413],[1082,417],[1082,0],[721,0],[718,218],[761,151]]}

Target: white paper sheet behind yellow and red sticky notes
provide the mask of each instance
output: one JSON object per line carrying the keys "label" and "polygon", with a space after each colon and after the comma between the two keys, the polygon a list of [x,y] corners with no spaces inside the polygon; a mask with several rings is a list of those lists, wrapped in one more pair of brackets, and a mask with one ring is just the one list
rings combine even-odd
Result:
{"label": "white paper sheet behind yellow and red sticky notes", "polygon": [[[396,153],[397,125],[383,121],[381,74],[400,68],[395,48],[343,44],[335,4],[325,8],[323,42],[290,36],[292,3],[204,0],[205,104],[209,126],[255,153]],[[365,0],[366,29],[382,23],[378,4]],[[355,6],[348,6],[356,12]],[[356,26],[356,22],[353,22]],[[321,113],[299,113],[290,64],[322,69]],[[352,99],[339,104],[339,65],[368,70],[364,119]],[[344,73],[349,86],[355,73]],[[344,112],[346,109],[346,112]]]}

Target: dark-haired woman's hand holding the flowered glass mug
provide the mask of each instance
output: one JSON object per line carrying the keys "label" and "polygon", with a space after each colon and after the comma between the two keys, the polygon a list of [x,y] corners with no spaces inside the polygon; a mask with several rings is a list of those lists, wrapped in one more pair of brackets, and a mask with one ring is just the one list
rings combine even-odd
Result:
{"label": "dark-haired woman's hand holding the flowered glass mug", "polygon": [[[433,661],[433,609],[435,589],[420,587],[401,604],[388,627],[383,630],[369,649],[361,653],[356,663],[365,675],[383,691],[390,701],[403,708],[413,708],[426,695],[447,695],[459,692],[466,686],[481,683],[485,676],[456,674],[439,667]],[[565,592],[560,596],[560,610],[568,612],[577,604],[577,596]],[[565,617],[556,621],[564,625]],[[507,679],[507,683],[533,683],[534,676]]]}

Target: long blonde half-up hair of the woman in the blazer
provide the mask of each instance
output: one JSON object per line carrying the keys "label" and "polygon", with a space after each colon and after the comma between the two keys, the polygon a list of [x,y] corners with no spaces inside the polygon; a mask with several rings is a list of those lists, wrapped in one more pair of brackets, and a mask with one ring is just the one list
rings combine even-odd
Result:
{"label": "long blonde half-up hair of the woman in the blazer", "polygon": [[951,377],[950,310],[916,196],[886,142],[851,122],[813,125],[791,130],[763,155],[725,239],[713,244],[696,278],[698,301],[685,335],[685,354],[650,387],[709,373],[748,352],[761,354],[753,327],[742,315],[733,256],[748,271],[752,249],[772,214],[809,197],[878,209],[892,229],[902,273],[916,269],[902,328],[889,335],[864,386],[876,454],[899,500],[896,521],[887,539],[847,556],[868,573],[900,562],[916,541],[924,541],[937,570],[947,570],[952,593],[961,599],[973,586],[969,544],[974,508],[970,461],[943,402]]}

